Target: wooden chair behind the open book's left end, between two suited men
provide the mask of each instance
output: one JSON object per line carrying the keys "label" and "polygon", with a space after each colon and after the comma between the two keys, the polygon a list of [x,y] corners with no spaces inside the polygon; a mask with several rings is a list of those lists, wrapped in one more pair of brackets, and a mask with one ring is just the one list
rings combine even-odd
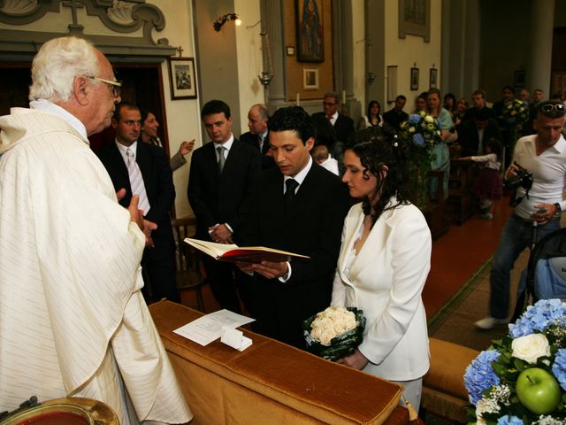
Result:
{"label": "wooden chair behind the open book's left end, between two suited men", "polygon": [[183,240],[195,235],[196,220],[194,218],[171,220],[173,235],[177,245],[177,289],[195,290],[196,309],[204,312],[203,286],[206,278],[201,262],[201,253]]}

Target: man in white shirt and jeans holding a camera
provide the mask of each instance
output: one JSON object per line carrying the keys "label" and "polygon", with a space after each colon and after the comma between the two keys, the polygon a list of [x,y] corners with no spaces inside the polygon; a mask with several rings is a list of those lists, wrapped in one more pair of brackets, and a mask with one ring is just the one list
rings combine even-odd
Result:
{"label": "man in white shirt and jeans holding a camera", "polygon": [[539,104],[533,121],[537,134],[522,137],[516,143],[513,163],[505,172],[507,186],[516,190],[510,204],[515,211],[501,230],[493,255],[490,315],[477,321],[477,328],[491,329],[508,323],[509,272],[515,260],[526,247],[560,228],[561,213],[566,209],[564,112],[560,101]]}

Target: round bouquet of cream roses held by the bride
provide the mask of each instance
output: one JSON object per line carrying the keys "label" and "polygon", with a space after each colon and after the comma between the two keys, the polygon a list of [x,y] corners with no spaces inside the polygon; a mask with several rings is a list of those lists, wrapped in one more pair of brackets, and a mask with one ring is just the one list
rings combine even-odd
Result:
{"label": "round bouquet of cream roses held by the bride", "polygon": [[310,352],[337,360],[352,354],[362,343],[365,317],[356,307],[331,305],[303,321],[302,328]]}

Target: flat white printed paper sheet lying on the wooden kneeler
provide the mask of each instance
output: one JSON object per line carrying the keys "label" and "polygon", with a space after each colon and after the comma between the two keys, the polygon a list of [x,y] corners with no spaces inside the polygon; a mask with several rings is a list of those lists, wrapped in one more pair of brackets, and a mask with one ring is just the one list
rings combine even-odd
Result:
{"label": "flat white printed paper sheet lying on the wooden kneeler", "polygon": [[224,309],[206,314],[195,321],[191,321],[173,330],[173,332],[197,344],[207,345],[224,334],[224,327],[235,329],[255,320],[256,319],[252,319],[251,317],[242,316],[241,314]]}

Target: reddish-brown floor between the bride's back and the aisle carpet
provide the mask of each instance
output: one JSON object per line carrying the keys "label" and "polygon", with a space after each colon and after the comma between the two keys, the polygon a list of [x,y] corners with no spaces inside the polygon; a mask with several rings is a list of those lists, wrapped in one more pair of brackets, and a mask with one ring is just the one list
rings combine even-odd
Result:
{"label": "reddish-brown floor between the bride's back and the aisle carpet", "polygon": [[[493,220],[483,220],[475,214],[462,226],[450,225],[447,234],[432,243],[431,272],[423,291],[428,318],[431,318],[493,255],[501,228],[509,217],[508,204],[508,198],[495,204]],[[220,307],[208,285],[204,287],[203,292],[205,313],[217,311]],[[184,305],[194,307],[194,291],[184,291],[181,300]]]}

